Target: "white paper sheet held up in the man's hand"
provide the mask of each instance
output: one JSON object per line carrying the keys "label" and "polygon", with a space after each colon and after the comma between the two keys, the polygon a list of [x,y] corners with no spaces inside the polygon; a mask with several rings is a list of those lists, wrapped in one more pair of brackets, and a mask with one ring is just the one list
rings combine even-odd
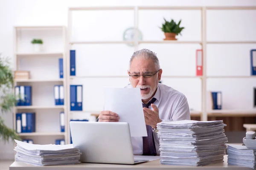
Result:
{"label": "white paper sheet held up in the man's hand", "polygon": [[148,136],[140,88],[105,88],[105,111],[119,115],[119,122],[128,122],[131,136]]}

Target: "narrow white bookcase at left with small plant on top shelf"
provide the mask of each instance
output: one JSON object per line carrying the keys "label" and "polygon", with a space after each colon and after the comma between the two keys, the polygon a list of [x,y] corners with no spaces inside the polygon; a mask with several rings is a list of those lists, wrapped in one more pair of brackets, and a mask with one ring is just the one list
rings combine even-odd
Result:
{"label": "narrow white bookcase at left with small plant on top shelf", "polygon": [[[44,41],[42,52],[32,51],[30,41],[33,38],[41,38]],[[59,58],[63,58],[63,79],[59,78]],[[65,139],[67,144],[67,121],[65,121],[65,132],[60,132],[59,119],[60,112],[64,111],[67,120],[66,27],[16,26],[14,59],[14,70],[30,71],[31,76],[31,79],[15,79],[14,86],[32,86],[32,105],[16,106],[13,109],[14,129],[16,129],[16,113],[35,112],[35,132],[19,133],[21,138],[35,139],[34,144],[55,144],[55,139]],[[64,105],[55,105],[54,85],[64,85]],[[46,138],[47,141],[44,141]]]}

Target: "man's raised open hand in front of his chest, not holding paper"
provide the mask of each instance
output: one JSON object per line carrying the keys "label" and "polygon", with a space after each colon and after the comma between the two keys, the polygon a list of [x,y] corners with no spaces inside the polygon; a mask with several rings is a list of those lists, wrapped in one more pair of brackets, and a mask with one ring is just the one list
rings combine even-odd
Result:
{"label": "man's raised open hand in front of his chest, not holding paper", "polygon": [[156,128],[157,123],[161,122],[161,119],[159,118],[159,111],[157,106],[151,104],[151,107],[153,108],[153,111],[149,108],[143,108],[145,122],[146,125],[149,125],[152,128]]}

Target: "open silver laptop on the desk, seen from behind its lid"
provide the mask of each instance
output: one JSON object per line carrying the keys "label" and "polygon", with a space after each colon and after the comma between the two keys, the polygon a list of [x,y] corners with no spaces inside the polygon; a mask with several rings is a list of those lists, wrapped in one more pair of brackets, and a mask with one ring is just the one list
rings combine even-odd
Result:
{"label": "open silver laptop on the desk, seen from behind its lid", "polygon": [[138,164],[134,160],[127,122],[70,122],[73,147],[82,152],[80,161],[104,164]]}

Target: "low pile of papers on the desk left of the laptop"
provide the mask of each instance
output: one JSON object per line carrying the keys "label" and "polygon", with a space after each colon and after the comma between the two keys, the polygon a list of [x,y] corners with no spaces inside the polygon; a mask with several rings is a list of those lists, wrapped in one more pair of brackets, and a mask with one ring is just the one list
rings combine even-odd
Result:
{"label": "low pile of papers on the desk left of the laptop", "polygon": [[15,161],[37,166],[78,164],[81,152],[73,144],[29,144],[15,140]]}

